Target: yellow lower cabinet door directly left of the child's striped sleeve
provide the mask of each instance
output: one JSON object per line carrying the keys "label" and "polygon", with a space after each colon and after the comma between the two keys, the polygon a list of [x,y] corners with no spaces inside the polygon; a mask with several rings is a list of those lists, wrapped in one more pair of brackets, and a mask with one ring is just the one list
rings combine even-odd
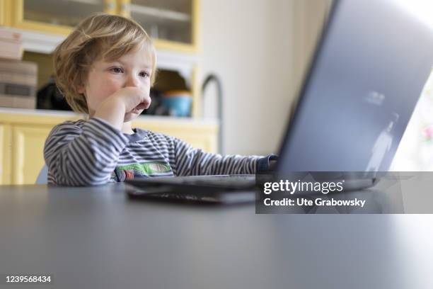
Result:
{"label": "yellow lower cabinet door directly left of the child's striped sleeve", "polygon": [[52,126],[14,125],[12,127],[12,183],[35,183],[44,166],[43,149]]}

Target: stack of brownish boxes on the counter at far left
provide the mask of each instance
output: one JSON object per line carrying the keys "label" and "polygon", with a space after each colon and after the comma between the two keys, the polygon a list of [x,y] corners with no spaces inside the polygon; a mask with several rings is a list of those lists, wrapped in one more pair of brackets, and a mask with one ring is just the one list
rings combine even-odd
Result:
{"label": "stack of brownish boxes on the counter at far left", "polygon": [[37,64],[22,56],[21,35],[0,29],[0,106],[36,107]]}

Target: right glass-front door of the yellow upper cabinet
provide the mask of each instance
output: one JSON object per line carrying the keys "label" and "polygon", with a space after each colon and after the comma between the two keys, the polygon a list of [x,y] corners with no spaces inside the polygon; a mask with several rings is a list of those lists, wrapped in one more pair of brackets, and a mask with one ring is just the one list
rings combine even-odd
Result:
{"label": "right glass-front door of the yellow upper cabinet", "polygon": [[140,23],[160,49],[195,52],[199,0],[120,0],[121,14]]}

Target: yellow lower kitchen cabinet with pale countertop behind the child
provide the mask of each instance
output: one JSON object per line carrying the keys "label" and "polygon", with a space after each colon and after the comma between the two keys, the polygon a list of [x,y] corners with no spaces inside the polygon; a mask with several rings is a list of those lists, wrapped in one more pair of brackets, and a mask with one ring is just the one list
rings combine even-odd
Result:
{"label": "yellow lower kitchen cabinet with pale countertop behind the child", "polygon": [[[54,127],[65,120],[77,120],[74,113],[23,113],[25,110],[0,111],[0,184],[35,183],[45,164],[43,147]],[[11,112],[9,112],[11,111]],[[16,112],[18,111],[18,113]],[[140,117],[134,127],[179,137],[207,152],[217,150],[217,123],[190,118]]]}

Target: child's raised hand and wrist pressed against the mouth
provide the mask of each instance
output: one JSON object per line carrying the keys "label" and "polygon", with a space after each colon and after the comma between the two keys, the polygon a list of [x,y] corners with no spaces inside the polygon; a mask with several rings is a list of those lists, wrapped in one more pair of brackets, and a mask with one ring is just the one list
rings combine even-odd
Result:
{"label": "child's raised hand and wrist pressed against the mouth", "polygon": [[102,118],[118,130],[124,122],[132,120],[146,108],[149,108],[151,98],[149,91],[137,87],[125,87],[108,96],[96,109],[94,116]]}

